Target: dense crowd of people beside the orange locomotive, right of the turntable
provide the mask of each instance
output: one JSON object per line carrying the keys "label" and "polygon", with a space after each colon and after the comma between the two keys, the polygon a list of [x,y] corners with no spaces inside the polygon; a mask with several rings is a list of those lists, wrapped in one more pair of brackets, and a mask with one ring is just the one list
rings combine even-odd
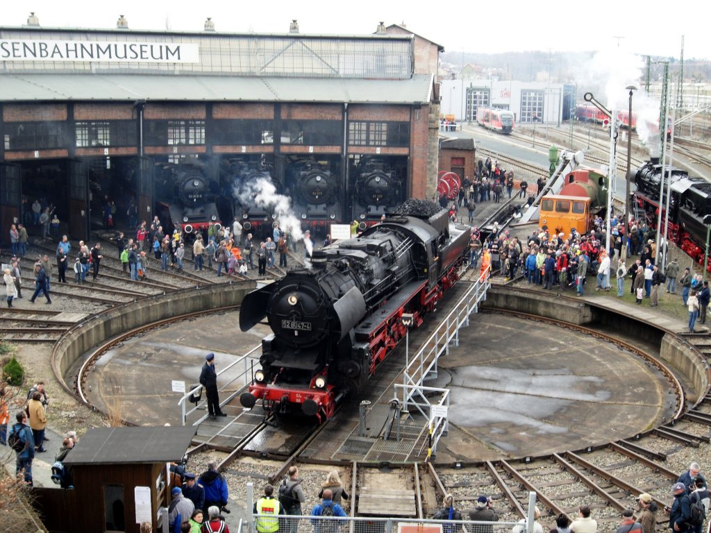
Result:
{"label": "dense crowd of people beside the orange locomotive, right of the turntable", "polygon": [[625,225],[623,219],[619,215],[610,220],[609,249],[605,247],[606,221],[602,217],[594,220],[594,229],[587,234],[539,229],[525,239],[510,236],[508,230],[499,232],[495,225],[492,236],[483,242],[475,226],[469,241],[469,263],[476,267],[483,257],[492,275],[513,279],[521,273],[528,284],[571,291],[576,296],[583,296],[586,287],[592,290],[594,283],[595,291],[616,290],[621,298],[627,286],[637,304],[647,299],[651,307],[659,305],[664,289],[666,294],[678,294],[678,284],[680,304],[688,307],[688,325],[693,333],[697,321],[706,323],[711,301],[708,281],[701,274],[692,274],[688,267],[682,271],[675,258],[663,264],[662,259],[668,259],[666,242],[662,239],[662,248],[657,249],[653,228],[634,218]]}

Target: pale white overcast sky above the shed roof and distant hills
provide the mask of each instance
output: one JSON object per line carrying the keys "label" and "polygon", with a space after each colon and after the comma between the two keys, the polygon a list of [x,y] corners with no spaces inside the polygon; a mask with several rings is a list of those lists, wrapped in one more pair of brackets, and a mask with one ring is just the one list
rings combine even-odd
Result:
{"label": "pale white overcast sky above the shed roof and distant hills", "polygon": [[124,14],[132,29],[174,31],[201,31],[209,16],[218,32],[234,33],[287,33],[295,18],[301,33],[365,34],[385,21],[386,25],[405,23],[448,52],[594,51],[619,43],[626,52],[678,58],[685,35],[685,59],[711,58],[707,12],[703,3],[690,0],[672,4],[659,0],[643,4],[629,0],[30,0],[27,4],[5,0],[3,4],[0,26],[25,24],[30,11],[46,27],[115,28],[119,14]]}

